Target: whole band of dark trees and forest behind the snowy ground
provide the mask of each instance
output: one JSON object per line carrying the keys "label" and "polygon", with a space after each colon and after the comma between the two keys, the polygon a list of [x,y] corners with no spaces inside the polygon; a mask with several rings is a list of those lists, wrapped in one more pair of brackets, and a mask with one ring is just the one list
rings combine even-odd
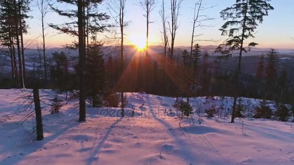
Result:
{"label": "whole band of dark trees and forest behind the snowy ground", "polygon": [[[191,50],[182,52],[183,63],[175,58],[178,15],[183,0],[168,0],[169,12],[166,11],[165,1],[160,0],[162,54],[148,51],[150,13],[156,4],[155,0],[139,0],[147,23],[146,54],[135,55],[132,60],[126,59],[124,51],[124,32],[130,23],[125,17],[128,0],[110,0],[107,4],[108,13],[100,12],[103,0],[57,0],[55,4],[46,0],[38,1],[43,41],[42,47],[37,50],[39,62],[36,64],[39,64],[37,67],[33,65],[32,74],[28,77],[23,34],[27,33],[26,18],[29,18],[30,0],[0,0],[0,42],[7,47],[6,53],[11,60],[11,84],[13,87],[33,88],[37,83],[39,88],[58,89],[60,92],[78,89],[79,121],[86,120],[86,97],[93,100],[95,107],[100,104],[101,96],[114,91],[120,92],[122,116],[125,100],[123,92],[145,91],[163,96],[184,96],[188,103],[189,98],[194,96],[233,96],[232,123],[237,98],[240,96],[293,103],[294,87],[288,79],[290,73],[279,68],[279,53],[276,50],[271,50],[266,60],[263,57],[260,59],[256,76],[241,71],[241,68],[247,67],[241,66],[242,53],[258,45],[255,42],[247,43],[247,39],[254,38],[258,24],[263,23],[264,17],[274,10],[270,0],[236,0],[235,4],[221,11],[221,18],[225,21],[220,28],[221,35],[227,39],[215,50],[221,54],[218,57],[210,57],[197,44],[197,41],[203,41],[197,34],[198,28],[209,27],[204,22],[212,20],[202,12],[213,7],[203,6],[204,0],[197,1],[191,28]],[[71,6],[70,10],[60,9],[60,3]],[[68,22],[64,24],[48,25],[75,39],[71,44],[63,46],[78,50],[78,57],[56,52],[52,59],[46,59],[44,19],[47,9],[67,18]],[[107,22],[110,19],[112,23]],[[103,55],[101,46],[104,43],[98,37],[104,32],[114,34],[109,38],[113,40],[115,49],[108,55]],[[235,53],[238,54],[236,69],[223,68],[222,63]]]}

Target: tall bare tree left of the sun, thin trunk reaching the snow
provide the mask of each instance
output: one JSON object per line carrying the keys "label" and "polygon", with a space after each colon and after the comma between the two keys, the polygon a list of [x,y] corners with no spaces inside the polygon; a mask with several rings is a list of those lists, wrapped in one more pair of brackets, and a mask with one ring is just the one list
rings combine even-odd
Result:
{"label": "tall bare tree left of the sun, thin trunk reaching the snow", "polygon": [[[120,64],[121,64],[121,77],[123,76],[124,64],[123,64],[123,49],[124,49],[124,28],[129,22],[124,21],[125,16],[125,6],[126,0],[111,0],[109,6],[110,15],[115,21],[114,27],[120,29],[119,40],[120,40]],[[115,37],[114,39],[118,39]],[[122,80],[122,78],[121,78]],[[122,80],[123,81],[123,80]],[[124,96],[123,96],[123,86],[121,87],[120,99],[121,99],[121,116],[124,116]]]}

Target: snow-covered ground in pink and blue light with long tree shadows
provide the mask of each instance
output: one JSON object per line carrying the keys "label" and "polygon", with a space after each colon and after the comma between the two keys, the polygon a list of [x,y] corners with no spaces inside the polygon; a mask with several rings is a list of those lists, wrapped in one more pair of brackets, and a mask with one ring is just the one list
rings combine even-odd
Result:
{"label": "snow-covered ground in pink and blue light with long tree shadows", "polygon": [[[23,93],[15,89],[0,90],[0,116],[12,115],[19,107],[13,100]],[[0,164],[294,164],[293,123],[244,118],[230,124],[229,118],[194,115],[195,124],[184,120],[179,128],[179,119],[173,110],[170,112],[175,98],[127,95],[129,103],[124,118],[117,117],[118,108],[88,108],[87,122],[78,123],[74,118],[77,111],[72,108],[76,102],[70,102],[56,114],[44,110],[42,141],[22,142],[26,138],[25,129],[30,129],[33,123],[28,120],[23,127],[19,126],[17,123],[24,115],[5,118],[6,121],[0,122]],[[243,98],[243,102],[251,105],[258,101]],[[229,97],[191,98],[195,109],[218,104],[225,110],[231,103]],[[139,109],[142,104],[144,108]],[[132,108],[134,117],[130,117]],[[200,125],[198,119],[202,121]]]}

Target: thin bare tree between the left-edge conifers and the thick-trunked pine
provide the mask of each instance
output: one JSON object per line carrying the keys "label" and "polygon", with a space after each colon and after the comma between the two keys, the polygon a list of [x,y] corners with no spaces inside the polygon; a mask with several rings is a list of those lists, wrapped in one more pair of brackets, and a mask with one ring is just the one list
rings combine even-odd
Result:
{"label": "thin bare tree between the left-edge conifers and the thick-trunked pine", "polygon": [[36,0],[38,9],[39,9],[40,14],[41,14],[41,23],[42,23],[42,35],[41,36],[42,36],[42,39],[43,39],[42,46],[43,46],[44,78],[45,78],[45,81],[47,81],[47,64],[46,64],[46,55],[45,55],[44,18],[46,16],[46,14],[48,14],[49,11],[50,11],[50,6],[49,6],[50,2],[51,2],[51,0]]}

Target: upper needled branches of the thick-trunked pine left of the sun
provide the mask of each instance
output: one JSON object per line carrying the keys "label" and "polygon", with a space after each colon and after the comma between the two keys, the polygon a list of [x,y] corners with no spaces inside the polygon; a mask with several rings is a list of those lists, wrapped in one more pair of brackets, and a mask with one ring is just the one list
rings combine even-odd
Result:
{"label": "upper needled branches of the thick-trunked pine left of the sun", "polygon": [[[99,5],[103,2],[103,0],[57,0],[57,2],[68,4],[69,6],[72,5],[73,7],[78,7],[78,2],[81,3],[81,23],[83,27],[83,42],[84,47],[88,49],[89,46],[89,40],[92,36],[95,36],[97,32],[103,32],[108,28],[108,25],[105,24],[105,21],[107,21],[110,17],[103,12],[100,12]],[[69,18],[70,22],[61,24],[61,25],[54,25],[49,24],[49,27],[54,28],[61,33],[65,33],[68,35],[71,35],[73,37],[78,37],[78,10],[72,10],[72,9],[59,9],[58,7],[55,7],[50,4],[50,8],[52,11],[56,12],[60,16],[64,16]],[[71,48],[71,49],[77,49],[78,43],[76,41],[73,41],[72,44],[66,44],[64,47]]]}

